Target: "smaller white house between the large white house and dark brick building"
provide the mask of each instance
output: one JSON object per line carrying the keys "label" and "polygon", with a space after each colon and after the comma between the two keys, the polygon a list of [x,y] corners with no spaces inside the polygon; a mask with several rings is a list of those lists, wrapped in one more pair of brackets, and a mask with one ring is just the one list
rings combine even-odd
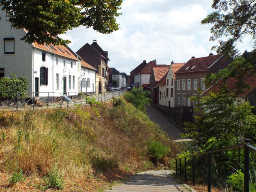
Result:
{"label": "smaller white house between the large white house and dark brick building", "polygon": [[96,69],[81,61],[81,92],[95,92]]}

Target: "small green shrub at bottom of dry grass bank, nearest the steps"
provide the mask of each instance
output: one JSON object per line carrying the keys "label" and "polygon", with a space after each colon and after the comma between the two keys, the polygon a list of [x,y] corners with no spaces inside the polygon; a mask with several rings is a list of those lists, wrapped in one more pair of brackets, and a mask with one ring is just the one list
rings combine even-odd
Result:
{"label": "small green shrub at bottom of dry grass bank, nearest the steps", "polygon": [[45,180],[48,188],[53,188],[53,189],[64,188],[63,176],[56,169],[50,171]]}

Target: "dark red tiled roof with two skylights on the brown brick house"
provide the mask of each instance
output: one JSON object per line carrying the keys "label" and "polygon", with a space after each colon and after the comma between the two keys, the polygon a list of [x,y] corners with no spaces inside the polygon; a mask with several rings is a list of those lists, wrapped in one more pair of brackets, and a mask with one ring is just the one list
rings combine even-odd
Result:
{"label": "dark red tiled roof with two skylights on the brown brick house", "polygon": [[189,61],[187,61],[187,63],[185,63],[185,65],[176,72],[176,74],[207,71],[208,68],[222,56],[223,55],[210,55],[207,57],[189,59]]}

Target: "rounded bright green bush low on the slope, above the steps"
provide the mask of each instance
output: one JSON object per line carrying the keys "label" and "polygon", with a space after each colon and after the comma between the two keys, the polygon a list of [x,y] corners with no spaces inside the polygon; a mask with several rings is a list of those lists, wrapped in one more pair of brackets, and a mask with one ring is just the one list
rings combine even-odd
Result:
{"label": "rounded bright green bush low on the slope, above the steps", "polygon": [[148,152],[150,158],[152,158],[155,161],[158,161],[166,157],[166,155],[170,152],[170,148],[164,146],[161,141],[151,141],[148,146]]}

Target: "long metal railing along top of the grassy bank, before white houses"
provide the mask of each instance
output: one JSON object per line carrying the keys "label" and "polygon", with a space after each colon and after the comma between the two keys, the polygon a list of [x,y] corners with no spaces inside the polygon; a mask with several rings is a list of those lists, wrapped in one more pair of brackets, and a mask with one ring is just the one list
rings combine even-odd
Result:
{"label": "long metal railing along top of the grassy bank, before white houses", "polygon": [[[80,92],[32,92],[29,96],[24,93],[10,94],[11,96],[0,97],[0,110],[18,111],[18,109],[35,109],[49,107],[72,107],[77,104],[87,104],[89,99],[98,102],[111,100],[123,95],[127,89],[108,91],[100,94],[81,94]],[[5,94],[8,95],[8,94]]]}

